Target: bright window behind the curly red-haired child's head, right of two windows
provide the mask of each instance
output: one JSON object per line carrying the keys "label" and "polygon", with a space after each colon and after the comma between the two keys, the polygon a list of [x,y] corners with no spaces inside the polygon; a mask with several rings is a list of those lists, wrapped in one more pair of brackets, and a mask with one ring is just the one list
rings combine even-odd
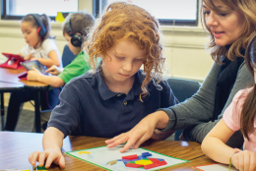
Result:
{"label": "bright window behind the curly red-haired child's head, right of two windows", "polygon": [[197,26],[198,23],[198,0],[95,0],[95,15],[100,16],[105,6],[117,1],[143,7],[155,15],[161,25]]}

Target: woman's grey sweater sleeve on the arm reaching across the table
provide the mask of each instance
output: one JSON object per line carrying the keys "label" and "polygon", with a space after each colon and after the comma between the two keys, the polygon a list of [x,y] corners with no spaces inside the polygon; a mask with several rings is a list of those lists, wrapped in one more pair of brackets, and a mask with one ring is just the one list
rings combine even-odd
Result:
{"label": "woman's grey sweater sleeve on the arm reaching across the table", "polygon": [[160,109],[169,116],[169,122],[163,131],[183,130],[211,121],[219,71],[220,66],[215,63],[197,93],[177,105]]}

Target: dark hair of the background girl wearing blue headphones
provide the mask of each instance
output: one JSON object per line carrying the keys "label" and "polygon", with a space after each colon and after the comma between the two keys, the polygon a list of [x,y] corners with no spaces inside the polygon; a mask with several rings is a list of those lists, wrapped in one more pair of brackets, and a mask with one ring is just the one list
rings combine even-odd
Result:
{"label": "dark hair of the background girl wearing blue headphones", "polygon": [[[35,14],[37,15],[37,14]],[[50,27],[50,18],[46,14],[38,15],[39,20],[41,20],[44,28],[46,28],[47,32],[44,37],[41,37],[41,40],[44,40],[45,38],[55,38],[51,37],[51,27]],[[30,22],[32,24],[32,27],[39,28],[40,26],[35,22],[32,15],[27,15],[22,19],[23,22]]]}

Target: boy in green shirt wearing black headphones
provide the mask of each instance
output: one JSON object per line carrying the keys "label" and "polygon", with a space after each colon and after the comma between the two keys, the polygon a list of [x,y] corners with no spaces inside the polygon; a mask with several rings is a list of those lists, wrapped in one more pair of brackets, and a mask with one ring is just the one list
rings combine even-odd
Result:
{"label": "boy in green shirt wearing black headphones", "polygon": [[90,66],[86,60],[89,56],[81,51],[83,37],[87,37],[87,32],[94,26],[95,17],[83,12],[72,13],[66,18],[63,24],[63,35],[68,41],[68,47],[74,55],[78,55],[68,66],[62,71],[60,67],[51,66],[46,73],[57,76],[46,76],[36,69],[28,72],[29,81],[37,81],[54,87],[60,87],[67,84],[71,79],[81,76],[90,70]]}

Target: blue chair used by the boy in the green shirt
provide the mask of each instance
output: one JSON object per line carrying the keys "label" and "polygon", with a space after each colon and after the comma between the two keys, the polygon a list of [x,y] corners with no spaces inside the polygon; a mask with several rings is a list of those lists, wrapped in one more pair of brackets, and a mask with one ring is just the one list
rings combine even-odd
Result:
{"label": "blue chair used by the boy in the green shirt", "polygon": [[[64,46],[64,49],[62,52],[62,58],[61,58],[63,68],[65,68],[67,65],[69,65],[75,58],[76,58],[76,55],[73,54],[73,52],[69,49],[68,45],[66,44]],[[51,111],[52,111],[52,109],[41,111],[40,122],[41,122],[41,132],[42,133],[47,128],[47,123],[49,121]],[[32,132],[35,132],[35,125],[33,126]]]}

